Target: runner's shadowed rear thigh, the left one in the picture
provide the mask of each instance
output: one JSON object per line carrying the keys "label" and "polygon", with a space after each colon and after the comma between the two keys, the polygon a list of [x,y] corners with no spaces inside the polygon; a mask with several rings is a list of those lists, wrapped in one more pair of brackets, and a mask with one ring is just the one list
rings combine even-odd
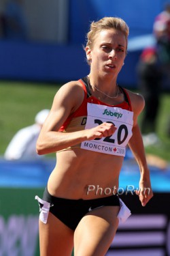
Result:
{"label": "runner's shadowed rear thigh, the left one in the picture", "polygon": [[73,231],[49,212],[46,224],[39,220],[41,256],[70,256],[73,250]]}

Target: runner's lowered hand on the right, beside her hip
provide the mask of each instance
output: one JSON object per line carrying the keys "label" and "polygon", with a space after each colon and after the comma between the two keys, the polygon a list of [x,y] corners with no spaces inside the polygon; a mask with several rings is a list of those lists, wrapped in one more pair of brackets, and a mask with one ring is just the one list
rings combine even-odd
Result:
{"label": "runner's lowered hand on the right, beside her hip", "polygon": [[148,203],[148,201],[150,201],[150,199],[154,196],[150,184],[150,177],[148,177],[148,179],[146,179],[145,181],[142,179],[140,180],[139,190],[136,190],[135,193],[139,196],[141,205],[146,206],[146,203]]}

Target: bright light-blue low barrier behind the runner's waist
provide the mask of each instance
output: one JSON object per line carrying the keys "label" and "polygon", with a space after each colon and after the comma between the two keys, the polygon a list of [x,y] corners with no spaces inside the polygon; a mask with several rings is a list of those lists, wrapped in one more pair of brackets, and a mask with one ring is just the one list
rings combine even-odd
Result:
{"label": "bright light-blue low barrier behind the runner's waist", "polygon": [[[0,160],[0,187],[44,188],[55,159],[34,161]],[[152,189],[154,192],[170,192],[170,168],[163,171],[150,167]],[[139,167],[133,161],[125,159],[120,172],[120,188],[131,190],[139,185]]]}

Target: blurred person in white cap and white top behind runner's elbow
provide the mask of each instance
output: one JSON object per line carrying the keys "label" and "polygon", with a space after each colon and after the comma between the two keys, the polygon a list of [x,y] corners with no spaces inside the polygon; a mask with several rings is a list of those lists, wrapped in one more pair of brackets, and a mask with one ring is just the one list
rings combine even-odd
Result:
{"label": "blurred person in white cap and white top behind runner's elbow", "polygon": [[35,116],[35,124],[22,128],[13,137],[4,154],[6,160],[29,160],[39,158],[36,143],[41,127],[50,111],[44,109]]}

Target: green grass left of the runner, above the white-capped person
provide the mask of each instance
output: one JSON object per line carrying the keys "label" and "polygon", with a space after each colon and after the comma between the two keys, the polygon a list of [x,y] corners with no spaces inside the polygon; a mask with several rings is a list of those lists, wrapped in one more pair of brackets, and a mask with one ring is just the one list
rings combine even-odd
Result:
{"label": "green grass left of the runner, above the white-capped person", "polygon": [[14,134],[34,123],[41,109],[50,109],[59,85],[0,82],[0,155]]}

